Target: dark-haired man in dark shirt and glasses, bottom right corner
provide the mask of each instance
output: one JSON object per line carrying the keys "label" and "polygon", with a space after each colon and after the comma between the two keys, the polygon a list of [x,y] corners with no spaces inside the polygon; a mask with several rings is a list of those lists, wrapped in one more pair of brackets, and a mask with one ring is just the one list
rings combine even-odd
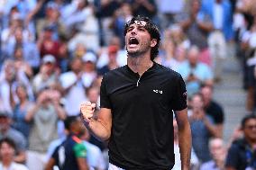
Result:
{"label": "dark-haired man in dark shirt and glasses, bottom right corner", "polygon": [[233,141],[228,150],[226,170],[255,169],[256,116],[246,115],[241,121],[243,138]]}

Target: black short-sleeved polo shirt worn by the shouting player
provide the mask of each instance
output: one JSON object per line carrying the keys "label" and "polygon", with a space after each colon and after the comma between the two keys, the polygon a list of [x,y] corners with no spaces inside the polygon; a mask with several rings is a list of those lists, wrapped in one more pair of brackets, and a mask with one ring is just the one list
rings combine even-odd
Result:
{"label": "black short-sleeved polo shirt worn by the shouting player", "polygon": [[141,77],[119,67],[103,77],[101,108],[112,110],[109,161],[124,169],[174,165],[173,114],[187,108],[186,86],[175,71],[154,63]]}

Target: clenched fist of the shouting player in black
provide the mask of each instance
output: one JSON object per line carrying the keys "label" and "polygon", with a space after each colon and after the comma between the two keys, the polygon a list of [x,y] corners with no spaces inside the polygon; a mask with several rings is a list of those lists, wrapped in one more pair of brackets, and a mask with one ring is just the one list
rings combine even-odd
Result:
{"label": "clenched fist of the shouting player in black", "polygon": [[86,123],[89,123],[91,119],[94,117],[94,112],[96,109],[96,103],[81,103],[80,105],[80,112],[81,112],[81,117],[83,121]]}

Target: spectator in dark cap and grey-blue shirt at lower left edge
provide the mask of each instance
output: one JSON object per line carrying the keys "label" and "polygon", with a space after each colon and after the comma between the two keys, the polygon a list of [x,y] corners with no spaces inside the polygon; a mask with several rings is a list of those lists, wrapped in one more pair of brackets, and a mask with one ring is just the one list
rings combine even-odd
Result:
{"label": "spectator in dark cap and grey-blue shirt at lower left edge", "polygon": [[11,127],[12,121],[11,113],[0,111],[0,139],[13,139],[15,145],[17,146],[14,161],[24,163],[26,160],[27,140],[20,131],[14,130]]}

